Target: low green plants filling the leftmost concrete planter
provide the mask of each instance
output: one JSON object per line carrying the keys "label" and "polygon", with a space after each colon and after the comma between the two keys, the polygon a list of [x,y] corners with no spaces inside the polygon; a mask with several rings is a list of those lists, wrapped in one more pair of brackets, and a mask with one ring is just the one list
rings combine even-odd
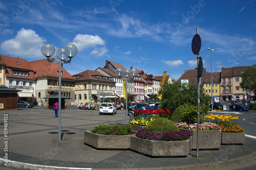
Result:
{"label": "low green plants filling the leftmost concrete planter", "polygon": [[133,127],[129,125],[99,125],[91,130],[91,132],[101,135],[130,135],[135,133]]}

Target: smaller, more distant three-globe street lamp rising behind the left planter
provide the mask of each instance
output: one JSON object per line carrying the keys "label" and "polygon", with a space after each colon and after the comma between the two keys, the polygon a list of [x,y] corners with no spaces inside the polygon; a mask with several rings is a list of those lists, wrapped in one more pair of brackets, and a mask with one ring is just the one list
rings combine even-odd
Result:
{"label": "smaller, more distant three-globe street lamp rising behind the left planter", "polygon": [[122,77],[124,76],[125,78],[122,79],[122,80],[125,80],[125,124],[127,124],[127,114],[128,114],[128,109],[127,109],[127,105],[128,105],[128,102],[127,102],[127,81],[130,80],[129,77],[130,76],[137,76],[138,74],[138,70],[135,69],[135,68],[132,68],[132,69],[126,69],[126,70],[123,70],[122,68],[117,68],[116,69],[116,75],[119,76],[119,77]]}

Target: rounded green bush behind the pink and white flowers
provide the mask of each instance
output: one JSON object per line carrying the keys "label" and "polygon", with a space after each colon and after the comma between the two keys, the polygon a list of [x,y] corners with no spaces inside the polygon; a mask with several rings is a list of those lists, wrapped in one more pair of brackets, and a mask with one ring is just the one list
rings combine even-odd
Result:
{"label": "rounded green bush behind the pink and white flowers", "polygon": [[[202,112],[200,108],[200,113]],[[200,117],[201,118],[201,117]],[[202,120],[203,118],[201,118]],[[184,122],[187,124],[197,123],[197,106],[191,104],[185,104],[179,106],[170,117],[170,120],[176,122]]]}

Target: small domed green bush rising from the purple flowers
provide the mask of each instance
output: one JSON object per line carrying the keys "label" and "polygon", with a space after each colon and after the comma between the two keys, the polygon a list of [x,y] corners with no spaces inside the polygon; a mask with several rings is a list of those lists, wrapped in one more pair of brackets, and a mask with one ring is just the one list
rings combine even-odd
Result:
{"label": "small domed green bush rising from the purple flowers", "polygon": [[146,130],[150,132],[179,131],[177,125],[172,120],[167,118],[154,119],[152,122],[148,123]]}

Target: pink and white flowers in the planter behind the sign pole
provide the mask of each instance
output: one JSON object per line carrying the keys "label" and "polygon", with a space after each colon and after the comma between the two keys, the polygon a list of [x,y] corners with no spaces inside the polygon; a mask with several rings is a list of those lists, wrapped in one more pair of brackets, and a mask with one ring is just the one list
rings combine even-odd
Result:
{"label": "pink and white flowers in the planter behind the sign pole", "polygon": [[[187,123],[175,123],[180,129],[189,129],[189,130],[197,130],[197,123],[195,124],[187,124]],[[199,130],[218,130],[221,129],[218,125],[214,123],[203,123],[199,124]]]}

